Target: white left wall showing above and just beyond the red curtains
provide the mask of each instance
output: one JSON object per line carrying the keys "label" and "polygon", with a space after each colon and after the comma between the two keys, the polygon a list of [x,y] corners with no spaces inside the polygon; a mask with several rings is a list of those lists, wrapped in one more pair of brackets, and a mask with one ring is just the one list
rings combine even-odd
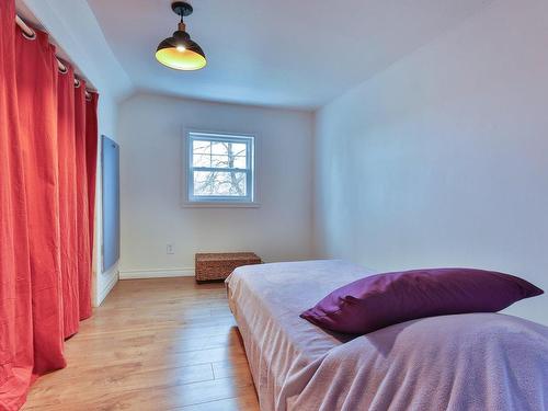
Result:
{"label": "white left wall showing above and just beyond the red curtains", "polygon": [[[115,59],[103,33],[84,0],[16,0],[18,12],[49,33],[58,54],[77,67],[99,91],[99,135],[116,139],[118,100],[130,93],[133,84]],[[98,140],[99,148],[100,139]],[[101,151],[98,151],[95,204],[95,248],[93,258],[93,296],[99,306],[117,281],[117,266],[102,272]]]}

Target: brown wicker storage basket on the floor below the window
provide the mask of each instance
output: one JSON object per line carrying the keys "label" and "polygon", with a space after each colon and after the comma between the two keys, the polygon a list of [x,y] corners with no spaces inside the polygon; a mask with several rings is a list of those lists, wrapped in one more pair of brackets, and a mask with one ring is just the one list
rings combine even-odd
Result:
{"label": "brown wicker storage basket on the floor below the window", "polygon": [[261,264],[261,259],[252,252],[198,253],[195,256],[196,281],[226,279],[235,269],[251,264]]}

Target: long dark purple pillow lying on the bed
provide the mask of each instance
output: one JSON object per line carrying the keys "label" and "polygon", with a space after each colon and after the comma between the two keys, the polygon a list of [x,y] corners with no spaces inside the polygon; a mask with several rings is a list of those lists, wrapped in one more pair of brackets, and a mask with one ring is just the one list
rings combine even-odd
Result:
{"label": "long dark purple pillow lying on the bed", "polygon": [[496,312],[543,293],[525,279],[492,271],[413,270],[347,284],[300,317],[328,330],[365,334],[423,317]]}

